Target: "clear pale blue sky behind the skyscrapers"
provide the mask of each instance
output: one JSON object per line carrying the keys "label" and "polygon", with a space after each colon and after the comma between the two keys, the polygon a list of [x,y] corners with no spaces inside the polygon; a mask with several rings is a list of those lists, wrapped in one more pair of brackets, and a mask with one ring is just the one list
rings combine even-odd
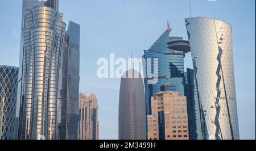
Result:
{"label": "clear pale blue sky behind the skyscrapers", "polygon": [[[187,38],[188,0],[60,0],[64,22],[81,25],[80,91],[97,95],[100,139],[118,139],[120,79],[98,79],[100,57],[141,57],[167,29]],[[233,31],[234,71],[241,139],[255,139],[255,1],[191,0],[192,16],[228,22]],[[0,2],[0,65],[18,66],[21,0]],[[185,68],[192,68],[191,56]]]}

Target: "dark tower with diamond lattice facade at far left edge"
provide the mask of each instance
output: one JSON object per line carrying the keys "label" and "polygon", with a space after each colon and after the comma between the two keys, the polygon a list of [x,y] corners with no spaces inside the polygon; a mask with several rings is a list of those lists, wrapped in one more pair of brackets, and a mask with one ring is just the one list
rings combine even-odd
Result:
{"label": "dark tower with diamond lattice facade at far left edge", "polygon": [[14,66],[0,65],[0,140],[16,139],[18,70]]}

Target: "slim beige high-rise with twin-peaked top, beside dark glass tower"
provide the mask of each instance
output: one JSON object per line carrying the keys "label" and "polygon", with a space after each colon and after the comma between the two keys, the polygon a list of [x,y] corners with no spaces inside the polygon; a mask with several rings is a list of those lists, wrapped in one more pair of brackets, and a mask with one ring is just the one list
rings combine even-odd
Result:
{"label": "slim beige high-rise with twin-peaked top, beside dark glass tower", "polygon": [[79,113],[79,139],[98,140],[98,100],[94,93],[89,97],[83,93],[79,94]]}

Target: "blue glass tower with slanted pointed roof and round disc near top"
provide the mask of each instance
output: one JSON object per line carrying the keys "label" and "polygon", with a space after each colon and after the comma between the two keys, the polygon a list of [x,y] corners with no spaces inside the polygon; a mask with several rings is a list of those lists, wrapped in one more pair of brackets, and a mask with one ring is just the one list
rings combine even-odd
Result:
{"label": "blue glass tower with slanted pointed roof and round disc near top", "polygon": [[[182,37],[169,37],[171,30],[168,24],[168,29],[150,49],[144,51],[143,58],[146,65],[143,68],[146,71],[144,85],[147,115],[151,115],[151,97],[159,91],[164,91],[166,75],[170,77],[170,90],[179,92],[181,96],[184,95],[184,57],[185,53],[190,51],[189,43]],[[155,58],[158,59],[157,62],[154,61]],[[158,72],[154,73],[156,68]]]}

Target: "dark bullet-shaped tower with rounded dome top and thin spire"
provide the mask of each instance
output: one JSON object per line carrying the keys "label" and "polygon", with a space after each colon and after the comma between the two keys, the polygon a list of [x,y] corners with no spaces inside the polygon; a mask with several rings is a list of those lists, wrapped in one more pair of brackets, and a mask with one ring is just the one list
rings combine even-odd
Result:
{"label": "dark bullet-shaped tower with rounded dome top and thin spire", "polygon": [[119,140],[146,140],[146,104],[143,78],[134,69],[123,74],[119,91]]}

